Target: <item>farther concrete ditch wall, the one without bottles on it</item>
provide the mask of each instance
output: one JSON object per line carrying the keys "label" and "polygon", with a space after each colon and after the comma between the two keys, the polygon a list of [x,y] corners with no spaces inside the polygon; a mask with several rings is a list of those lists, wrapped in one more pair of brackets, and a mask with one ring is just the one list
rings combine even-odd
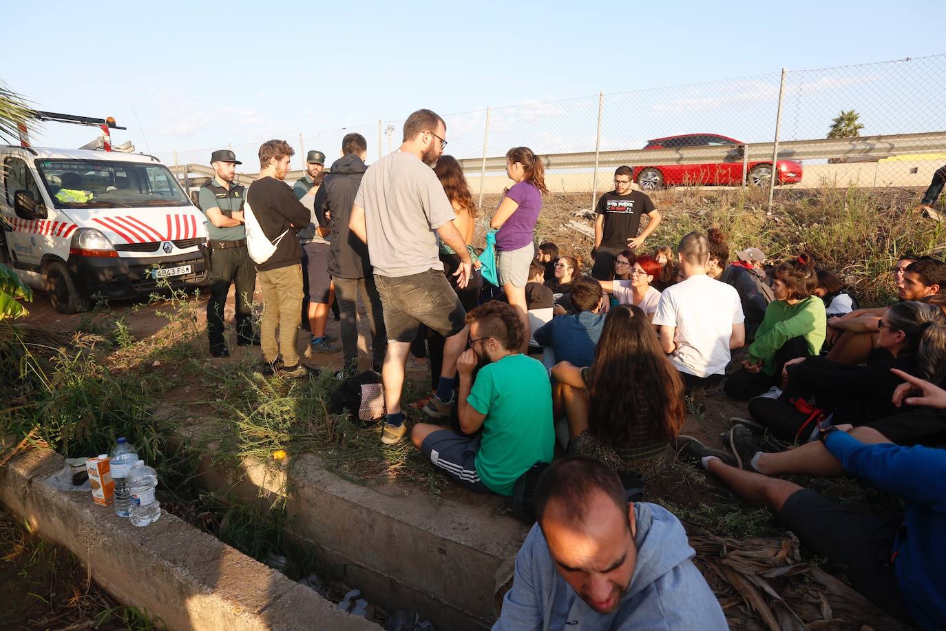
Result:
{"label": "farther concrete ditch wall, the one without bottles on it", "polygon": [[221,497],[266,506],[285,498],[291,535],[335,578],[359,587],[371,603],[411,609],[438,629],[489,628],[500,568],[508,571],[529,530],[499,514],[504,500],[438,501],[403,482],[362,486],[311,454],[279,467],[245,461],[241,471],[204,457],[198,471]]}

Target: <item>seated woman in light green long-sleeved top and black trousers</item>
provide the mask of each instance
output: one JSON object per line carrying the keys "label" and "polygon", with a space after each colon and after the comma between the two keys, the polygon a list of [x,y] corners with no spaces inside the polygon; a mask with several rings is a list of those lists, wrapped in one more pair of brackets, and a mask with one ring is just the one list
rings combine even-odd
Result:
{"label": "seated woman in light green long-sleeved top and black trousers", "polygon": [[781,382],[781,369],[789,359],[817,355],[825,341],[827,317],[821,299],[815,296],[818,276],[805,254],[786,261],[772,271],[775,300],[765,308],[755,342],[749,345],[743,369],[726,381],[726,394],[750,399]]}

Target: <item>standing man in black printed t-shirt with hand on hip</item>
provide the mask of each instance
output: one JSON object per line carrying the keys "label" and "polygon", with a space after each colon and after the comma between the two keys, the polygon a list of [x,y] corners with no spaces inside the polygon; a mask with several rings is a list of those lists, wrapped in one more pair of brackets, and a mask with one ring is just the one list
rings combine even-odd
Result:
{"label": "standing man in black printed t-shirt with hand on hip", "polygon": [[[614,277],[614,261],[622,251],[637,250],[657,230],[660,213],[651,199],[644,193],[631,190],[631,167],[618,167],[614,171],[614,190],[604,193],[598,200],[594,222],[594,267],[591,275],[598,280]],[[640,216],[647,215],[650,222],[638,235]]]}

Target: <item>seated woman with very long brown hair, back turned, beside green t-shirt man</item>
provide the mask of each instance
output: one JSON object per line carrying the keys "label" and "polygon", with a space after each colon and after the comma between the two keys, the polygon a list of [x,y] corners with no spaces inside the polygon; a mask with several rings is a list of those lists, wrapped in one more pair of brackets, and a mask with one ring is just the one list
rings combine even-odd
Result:
{"label": "seated woman with very long brown hair, back turned, beside green t-shirt man", "polygon": [[557,363],[552,377],[555,418],[569,419],[569,451],[616,470],[656,464],[683,425],[683,380],[639,307],[612,308],[594,362]]}

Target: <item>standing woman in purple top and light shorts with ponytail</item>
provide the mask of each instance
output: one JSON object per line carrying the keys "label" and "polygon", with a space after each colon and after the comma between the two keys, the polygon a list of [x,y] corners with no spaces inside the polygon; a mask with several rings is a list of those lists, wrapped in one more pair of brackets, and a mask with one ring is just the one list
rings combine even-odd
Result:
{"label": "standing woman in purple top and light shorts with ponytail", "polygon": [[[490,227],[496,233],[496,267],[499,286],[506,299],[529,331],[528,307],[526,307],[526,283],[529,282],[529,264],[535,253],[533,231],[538,213],[542,210],[542,195],[549,192],[545,187],[545,169],[542,160],[532,149],[514,147],[506,153],[506,175],[515,182],[506,191]],[[525,336],[522,352],[526,351],[529,335]]]}

